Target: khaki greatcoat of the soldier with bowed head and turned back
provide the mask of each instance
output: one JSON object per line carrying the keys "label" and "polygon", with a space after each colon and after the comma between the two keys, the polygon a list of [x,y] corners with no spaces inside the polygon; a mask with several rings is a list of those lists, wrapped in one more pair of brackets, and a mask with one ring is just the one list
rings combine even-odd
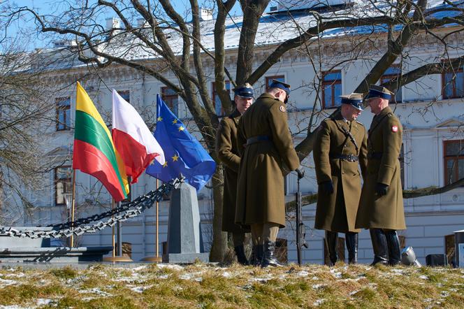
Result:
{"label": "khaki greatcoat of the soldier with bowed head and turned back", "polygon": [[[269,141],[246,145],[247,139],[268,136]],[[238,149],[242,153],[238,171],[235,222],[285,227],[285,164],[290,171],[300,166],[293,148],[284,103],[262,94],[240,118]]]}

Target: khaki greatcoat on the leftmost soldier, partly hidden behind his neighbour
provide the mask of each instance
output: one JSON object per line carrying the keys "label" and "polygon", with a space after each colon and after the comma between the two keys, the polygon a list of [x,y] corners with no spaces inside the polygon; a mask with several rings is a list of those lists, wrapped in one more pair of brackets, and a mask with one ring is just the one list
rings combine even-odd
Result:
{"label": "khaki greatcoat on the leftmost soldier, partly hidden behind his neighbour", "polygon": [[222,231],[240,233],[244,230],[235,224],[235,203],[237,198],[237,178],[240,156],[237,149],[237,128],[240,112],[222,118],[216,134],[216,153],[224,164],[224,199],[222,207]]}

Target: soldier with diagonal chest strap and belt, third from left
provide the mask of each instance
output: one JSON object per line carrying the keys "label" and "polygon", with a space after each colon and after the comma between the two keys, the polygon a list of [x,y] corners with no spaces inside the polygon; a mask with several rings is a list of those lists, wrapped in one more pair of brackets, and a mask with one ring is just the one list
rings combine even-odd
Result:
{"label": "soldier with diagonal chest strap and belt, third from left", "polygon": [[338,233],[345,233],[348,261],[355,264],[358,232],[354,228],[367,169],[367,134],[356,118],[361,114],[363,94],[342,96],[340,113],[324,120],[314,141],[314,164],[318,183],[315,229],[326,230],[331,265],[337,261]]}

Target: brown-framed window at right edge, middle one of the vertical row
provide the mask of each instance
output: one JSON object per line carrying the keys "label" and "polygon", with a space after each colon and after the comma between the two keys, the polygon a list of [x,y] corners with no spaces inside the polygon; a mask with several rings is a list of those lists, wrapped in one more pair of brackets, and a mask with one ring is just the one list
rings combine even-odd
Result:
{"label": "brown-framed window at right edge, middle one of the vertical row", "polygon": [[464,140],[444,141],[444,185],[464,178]]}

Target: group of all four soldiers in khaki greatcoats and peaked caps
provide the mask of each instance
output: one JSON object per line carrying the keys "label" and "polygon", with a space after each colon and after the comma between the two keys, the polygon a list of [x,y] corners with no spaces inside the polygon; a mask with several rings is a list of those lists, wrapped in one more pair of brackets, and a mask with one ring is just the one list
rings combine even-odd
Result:
{"label": "group of all four soldiers in khaki greatcoats and peaked caps", "polygon": [[[284,176],[290,171],[298,178],[304,175],[288,127],[290,85],[273,80],[254,103],[251,85],[233,91],[235,110],[220,122],[216,139],[224,164],[222,231],[232,234],[240,264],[282,266],[275,257],[275,241],[285,227]],[[363,110],[363,94],[356,93],[342,96],[340,109],[317,129],[314,227],[326,231],[331,265],[338,260],[338,233],[345,233],[349,263],[357,262],[360,229],[370,229],[372,264],[400,262],[396,231],[405,229],[398,160],[403,128],[389,108],[392,96],[384,87],[370,87],[365,99],[375,116],[368,132],[356,120]],[[249,231],[250,261],[244,250]]]}

